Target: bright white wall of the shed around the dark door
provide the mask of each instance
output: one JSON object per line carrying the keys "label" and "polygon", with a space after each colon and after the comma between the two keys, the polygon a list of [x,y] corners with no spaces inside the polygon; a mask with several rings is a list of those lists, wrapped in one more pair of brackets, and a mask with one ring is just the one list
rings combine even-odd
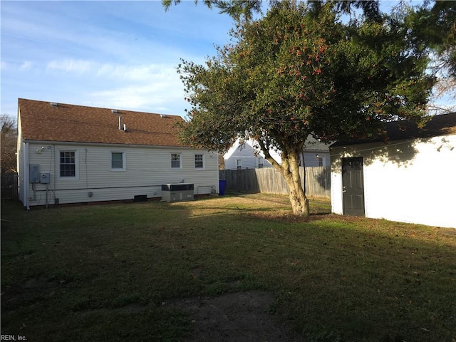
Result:
{"label": "bright white wall of the shed around the dark door", "polygon": [[342,214],[342,157],[363,157],[366,217],[456,227],[456,136],[331,151],[332,211]]}

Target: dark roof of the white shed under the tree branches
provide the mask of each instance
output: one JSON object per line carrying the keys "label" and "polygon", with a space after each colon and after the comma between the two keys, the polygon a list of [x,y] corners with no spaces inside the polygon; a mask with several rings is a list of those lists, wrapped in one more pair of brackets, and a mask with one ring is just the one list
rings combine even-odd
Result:
{"label": "dark roof of the white shed under the tree branches", "polygon": [[[423,128],[419,128],[413,120],[400,120],[386,123],[386,136],[388,140],[431,138],[440,135],[456,134],[456,113],[435,115],[430,118]],[[362,144],[366,142],[380,142],[385,140],[383,135],[374,138],[344,140],[334,142],[333,146]]]}

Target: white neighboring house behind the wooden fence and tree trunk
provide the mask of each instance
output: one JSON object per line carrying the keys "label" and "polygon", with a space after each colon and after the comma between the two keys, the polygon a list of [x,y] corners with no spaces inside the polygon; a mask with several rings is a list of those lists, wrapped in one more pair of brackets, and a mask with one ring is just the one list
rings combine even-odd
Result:
{"label": "white neighboring house behind the wooden fence and tree trunk", "polygon": [[[236,140],[232,147],[224,154],[225,170],[255,169],[261,167],[271,167],[271,163],[266,160],[264,153],[256,147],[253,139]],[[309,166],[329,166],[329,145],[319,142],[311,135],[306,139],[303,153],[300,157],[301,165],[304,155],[306,167]],[[269,150],[271,157],[281,164],[281,152]]]}

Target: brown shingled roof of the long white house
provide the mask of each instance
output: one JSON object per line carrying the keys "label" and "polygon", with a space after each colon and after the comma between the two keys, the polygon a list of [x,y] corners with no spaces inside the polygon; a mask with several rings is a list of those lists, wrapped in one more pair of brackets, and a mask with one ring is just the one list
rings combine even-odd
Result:
{"label": "brown shingled roof of the long white house", "polygon": [[[24,140],[182,146],[178,115],[160,115],[19,98]],[[119,130],[119,117],[121,127]],[[123,130],[123,125],[126,131]]]}

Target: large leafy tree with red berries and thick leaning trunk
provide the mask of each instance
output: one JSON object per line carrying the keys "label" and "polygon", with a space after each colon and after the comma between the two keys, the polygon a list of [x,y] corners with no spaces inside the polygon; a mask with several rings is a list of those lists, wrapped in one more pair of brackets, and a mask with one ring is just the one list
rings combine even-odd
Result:
{"label": "large leafy tree with red berries and thick leaning trunk", "polygon": [[[387,120],[424,117],[434,79],[397,19],[342,24],[332,2],[279,1],[231,35],[204,65],[179,66],[192,107],[182,140],[222,151],[254,138],[284,176],[294,214],[309,215],[299,175],[309,134],[368,136]],[[271,149],[281,151],[281,164]]]}

